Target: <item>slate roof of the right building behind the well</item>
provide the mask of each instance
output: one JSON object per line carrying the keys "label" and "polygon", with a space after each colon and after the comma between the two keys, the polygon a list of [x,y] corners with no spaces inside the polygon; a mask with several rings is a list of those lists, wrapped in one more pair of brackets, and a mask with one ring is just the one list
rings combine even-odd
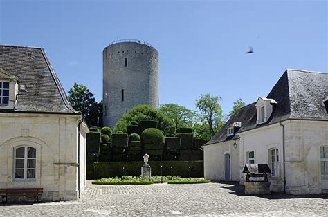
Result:
{"label": "slate roof of the right building behind the well", "polygon": [[327,96],[328,73],[286,70],[266,97],[277,102],[266,123],[256,124],[256,102],[253,102],[240,108],[204,146],[239,138],[226,135],[227,127],[233,122],[242,122],[242,127],[235,129],[235,133],[236,130],[241,133],[289,119],[328,121],[323,103]]}

